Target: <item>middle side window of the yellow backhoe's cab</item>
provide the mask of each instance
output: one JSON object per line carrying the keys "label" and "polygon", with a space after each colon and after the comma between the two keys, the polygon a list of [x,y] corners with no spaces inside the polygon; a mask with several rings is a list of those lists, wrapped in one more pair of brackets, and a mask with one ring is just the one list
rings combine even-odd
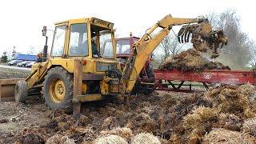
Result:
{"label": "middle side window of the yellow backhoe's cab", "polygon": [[88,38],[86,24],[73,24],[70,26],[70,48],[68,55],[88,55]]}

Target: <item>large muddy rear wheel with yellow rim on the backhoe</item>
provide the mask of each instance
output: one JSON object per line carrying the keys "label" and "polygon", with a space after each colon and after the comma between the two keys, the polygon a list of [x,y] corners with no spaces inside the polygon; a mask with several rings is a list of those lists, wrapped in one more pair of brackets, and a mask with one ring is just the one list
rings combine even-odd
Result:
{"label": "large muddy rear wheel with yellow rim on the backhoe", "polygon": [[62,67],[48,71],[43,83],[43,96],[51,110],[72,111],[73,76]]}

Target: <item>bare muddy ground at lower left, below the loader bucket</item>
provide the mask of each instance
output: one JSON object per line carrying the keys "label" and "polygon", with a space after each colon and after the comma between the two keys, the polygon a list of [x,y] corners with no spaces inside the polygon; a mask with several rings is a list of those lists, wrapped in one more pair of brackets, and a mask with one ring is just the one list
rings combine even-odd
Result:
{"label": "bare muddy ground at lower left, below the loader bucket", "polygon": [[38,96],[24,104],[0,102],[0,111],[0,143],[13,143],[18,131],[50,122],[46,116],[48,108]]}

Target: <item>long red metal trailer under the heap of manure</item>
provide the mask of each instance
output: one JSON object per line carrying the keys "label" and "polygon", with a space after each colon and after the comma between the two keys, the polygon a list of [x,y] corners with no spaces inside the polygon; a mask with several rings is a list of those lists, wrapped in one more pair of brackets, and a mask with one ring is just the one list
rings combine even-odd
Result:
{"label": "long red metal trailer under the heap of manure", "polygon": [[[252,85],[256,84],[256,73],[252,70],[202,70],[201,72],[154,70],[154,75],[156,78],[154,90],[179,92],[200,91],[192,89],[192,86],[200,85],[194,84],[194,82],[201,83],[201,86],[204,86],[206,90],[209,89],[209,86],[213,86],[216,83],[232,85],[242,85],[246,83]],[[144,84],[146,84],[146,82]]]}

